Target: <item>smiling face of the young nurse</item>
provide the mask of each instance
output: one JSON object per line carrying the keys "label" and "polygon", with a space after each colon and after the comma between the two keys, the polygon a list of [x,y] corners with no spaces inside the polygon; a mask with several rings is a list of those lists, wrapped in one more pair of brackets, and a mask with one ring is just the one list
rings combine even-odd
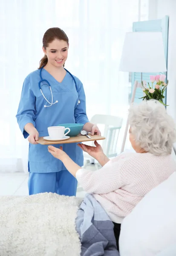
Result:
{"label": "smiling face of the young nurse", "polygon": [[48,64],[55,67],[62,67],[68,56],[69,45],[66,41],[55,39],[48,44],[43,52],[48,58]]}

